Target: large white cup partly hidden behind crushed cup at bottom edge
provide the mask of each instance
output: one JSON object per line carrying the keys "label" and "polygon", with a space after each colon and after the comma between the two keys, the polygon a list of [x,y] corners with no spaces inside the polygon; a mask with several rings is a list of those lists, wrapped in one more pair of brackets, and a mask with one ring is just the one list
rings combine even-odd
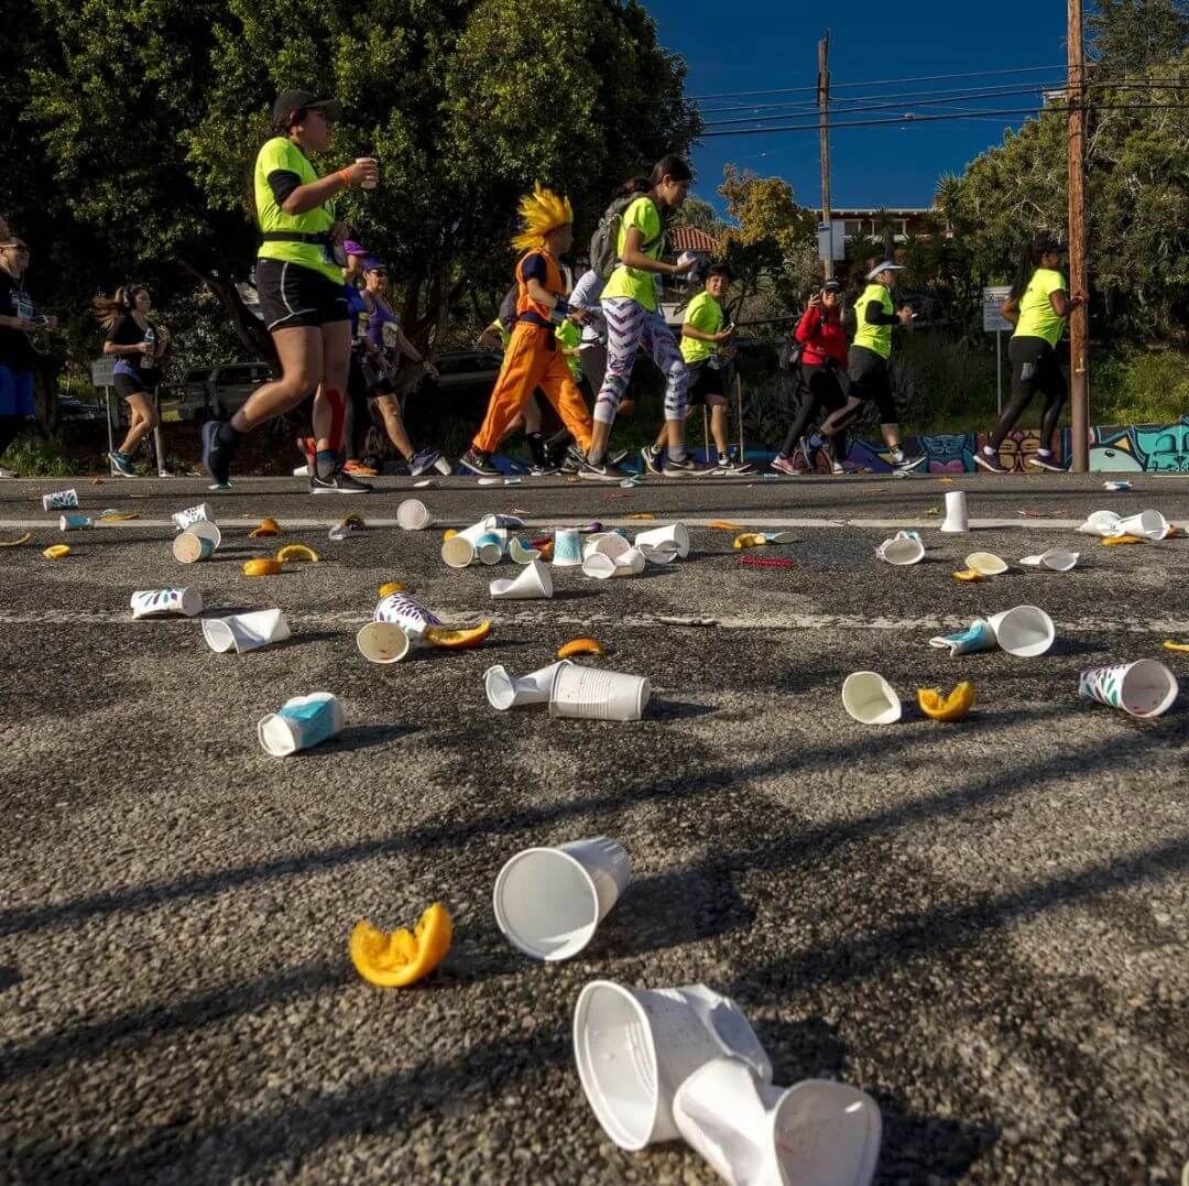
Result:
{"label": "large white cup partly hidden behind crushed cup at bottom edge", "polygon": [[734,1000],[704,984],[633,989],[592,980],[574,1008],[574,1059],[606,1135],[636,1152],[681,1134],[678,1088],[713,1059],[736,1058],[763,1083],[772,1063]]}

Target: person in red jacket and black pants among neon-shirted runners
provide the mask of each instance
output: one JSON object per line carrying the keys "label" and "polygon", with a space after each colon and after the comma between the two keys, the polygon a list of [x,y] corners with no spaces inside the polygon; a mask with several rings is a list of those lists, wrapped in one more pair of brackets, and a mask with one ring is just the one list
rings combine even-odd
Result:
{"label": "person in red jacket and black pants among neon-shirted runners", "polygon": [[[806,429],[823,409],[833,410],[847,402],[847,332],[842,327],[842,284],[828,280],[810,297],[794,337],[801,350],[801,406],[788,426],[784,447],[773,458],[772,468],[780,473],[797,473],[793,450],[800,447],[805,464],[813,470],[812,450]],[[839,431],[831,441],[831,466],[842,473],[847,456],[847,437]]]}

